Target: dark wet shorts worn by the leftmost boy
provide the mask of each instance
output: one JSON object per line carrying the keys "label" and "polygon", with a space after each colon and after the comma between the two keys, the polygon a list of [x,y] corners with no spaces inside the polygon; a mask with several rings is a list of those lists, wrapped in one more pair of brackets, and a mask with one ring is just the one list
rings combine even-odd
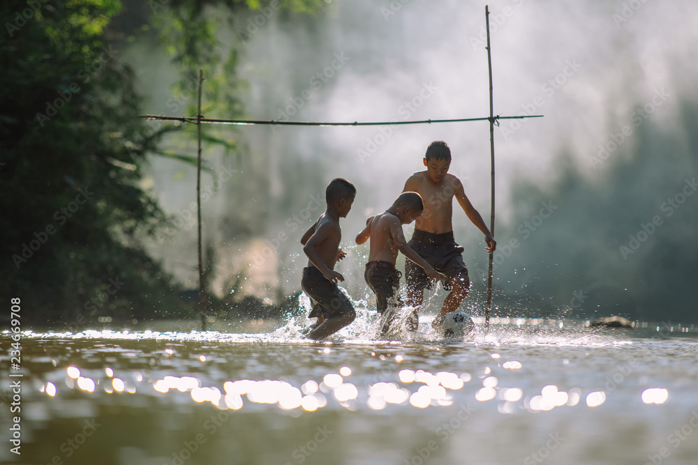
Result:
{"label": "dark wet shorts worn by the leftmost boy", "polygon": [[308,294],[313,305],[313,310],[308,318],[323,317],[327,319],[354,312],[354,306],[347,296],[339,290],[336,284],[329,282],[314,266],[303,268],[301,289]]}

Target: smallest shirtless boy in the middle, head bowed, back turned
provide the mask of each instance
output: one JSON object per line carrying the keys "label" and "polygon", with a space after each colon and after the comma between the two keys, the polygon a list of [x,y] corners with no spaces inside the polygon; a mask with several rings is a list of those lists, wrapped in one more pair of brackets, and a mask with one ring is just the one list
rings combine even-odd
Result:
{"label": "smallest shirtless boy in the middle, head bowed, back turned", "polygon": [[[442,276],[426,263],[422,257],[407,245],[402,232],[403,224],[410,224],[422,215],[424,203],[417,192],[403,192],[385,212],[366,220],[366,228],[356,236],[356,243],[363,244],[370,237],[369,263],[366,264],[364,279],[376,294],[378,313],[384,318],[381,334],[388,332],[394,317],[385,314],[388,305],[401,305],[397,291],[400,287],[401,273],[395,268],[398,250],[424,268],[426,276],[438,280]],[[416,331],[419,325],[417,312],[407,319],[410,331]]]}

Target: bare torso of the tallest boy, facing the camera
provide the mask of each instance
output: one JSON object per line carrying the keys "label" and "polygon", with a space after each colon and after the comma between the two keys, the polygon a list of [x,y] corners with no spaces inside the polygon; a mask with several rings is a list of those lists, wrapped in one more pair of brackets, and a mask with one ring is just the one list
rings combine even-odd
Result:
{"label": "bare torso of the tallest boy, facing the camera", "polygon": [[461,182],[452,174],[433,183],[426,171],[419,171],[408,179],[406,191],[414,191],[422,196],[424,213],[415,220],[415,229],[434,234],[453,231],[453,197],[456,190],[463,190]]}

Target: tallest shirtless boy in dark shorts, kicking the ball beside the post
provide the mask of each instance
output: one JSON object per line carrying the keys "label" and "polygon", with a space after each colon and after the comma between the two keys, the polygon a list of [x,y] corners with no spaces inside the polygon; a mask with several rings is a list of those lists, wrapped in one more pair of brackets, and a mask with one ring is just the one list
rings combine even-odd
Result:
{"label": "tallest shirtless boy in dark shorts, kicking the ball beside the post", "polygon": [[[443,280],[443,286],[445,290],[451,291],[444,300],[441,311],[431,323],[434,329],[447,313],[453,312],[461,305],[470,287],[468,268],[461,256],[463,247],[456,244],[453,237],[453,197],[456,197],[470,221],[484,234],[487,243],[485,250],[492,253],[497,246],[482,216],[477,213],[463,192],[463,184],[459,178],[448,174],[450,165],[450,148],[443,141],[432,142],[424,156],[426,171],[418,171],[410,176],[403,189],[418,192],[424,199],[424,213],[417,218],[415,233],[409,245],[437,271],[446,275],[447,280]],[[431,283],[419,264],[413,261],[406,261],[405,274],[408,305],[418,307],[422,305],[424,288],[431,289]]]}

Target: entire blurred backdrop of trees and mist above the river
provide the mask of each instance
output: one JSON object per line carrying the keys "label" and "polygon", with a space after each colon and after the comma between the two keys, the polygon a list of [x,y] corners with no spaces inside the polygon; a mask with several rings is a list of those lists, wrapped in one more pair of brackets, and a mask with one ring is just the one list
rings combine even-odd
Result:
{"label": "entire blurred backdrop of trees and mist above the river", "polygon": [[[5,2],[3,295],[22,296],[40,324],[195,317],[195,125],[138,116],[194,116],[199,69],[207,118],[489,116],[485,4],[495,114],[544,115],[495,132],[495,314],[695,323],[688,0]],[[371,307],[368,247],[353,238],[434,140],[449,144],[450,172],[489,224],[487,121],[203,132],[212,317],[292,311],[299,238],[338,176],[358,190],[338,270]],[[464,305],[482,314],[482,234],[457,206],[454,231],[473,282]]]}

